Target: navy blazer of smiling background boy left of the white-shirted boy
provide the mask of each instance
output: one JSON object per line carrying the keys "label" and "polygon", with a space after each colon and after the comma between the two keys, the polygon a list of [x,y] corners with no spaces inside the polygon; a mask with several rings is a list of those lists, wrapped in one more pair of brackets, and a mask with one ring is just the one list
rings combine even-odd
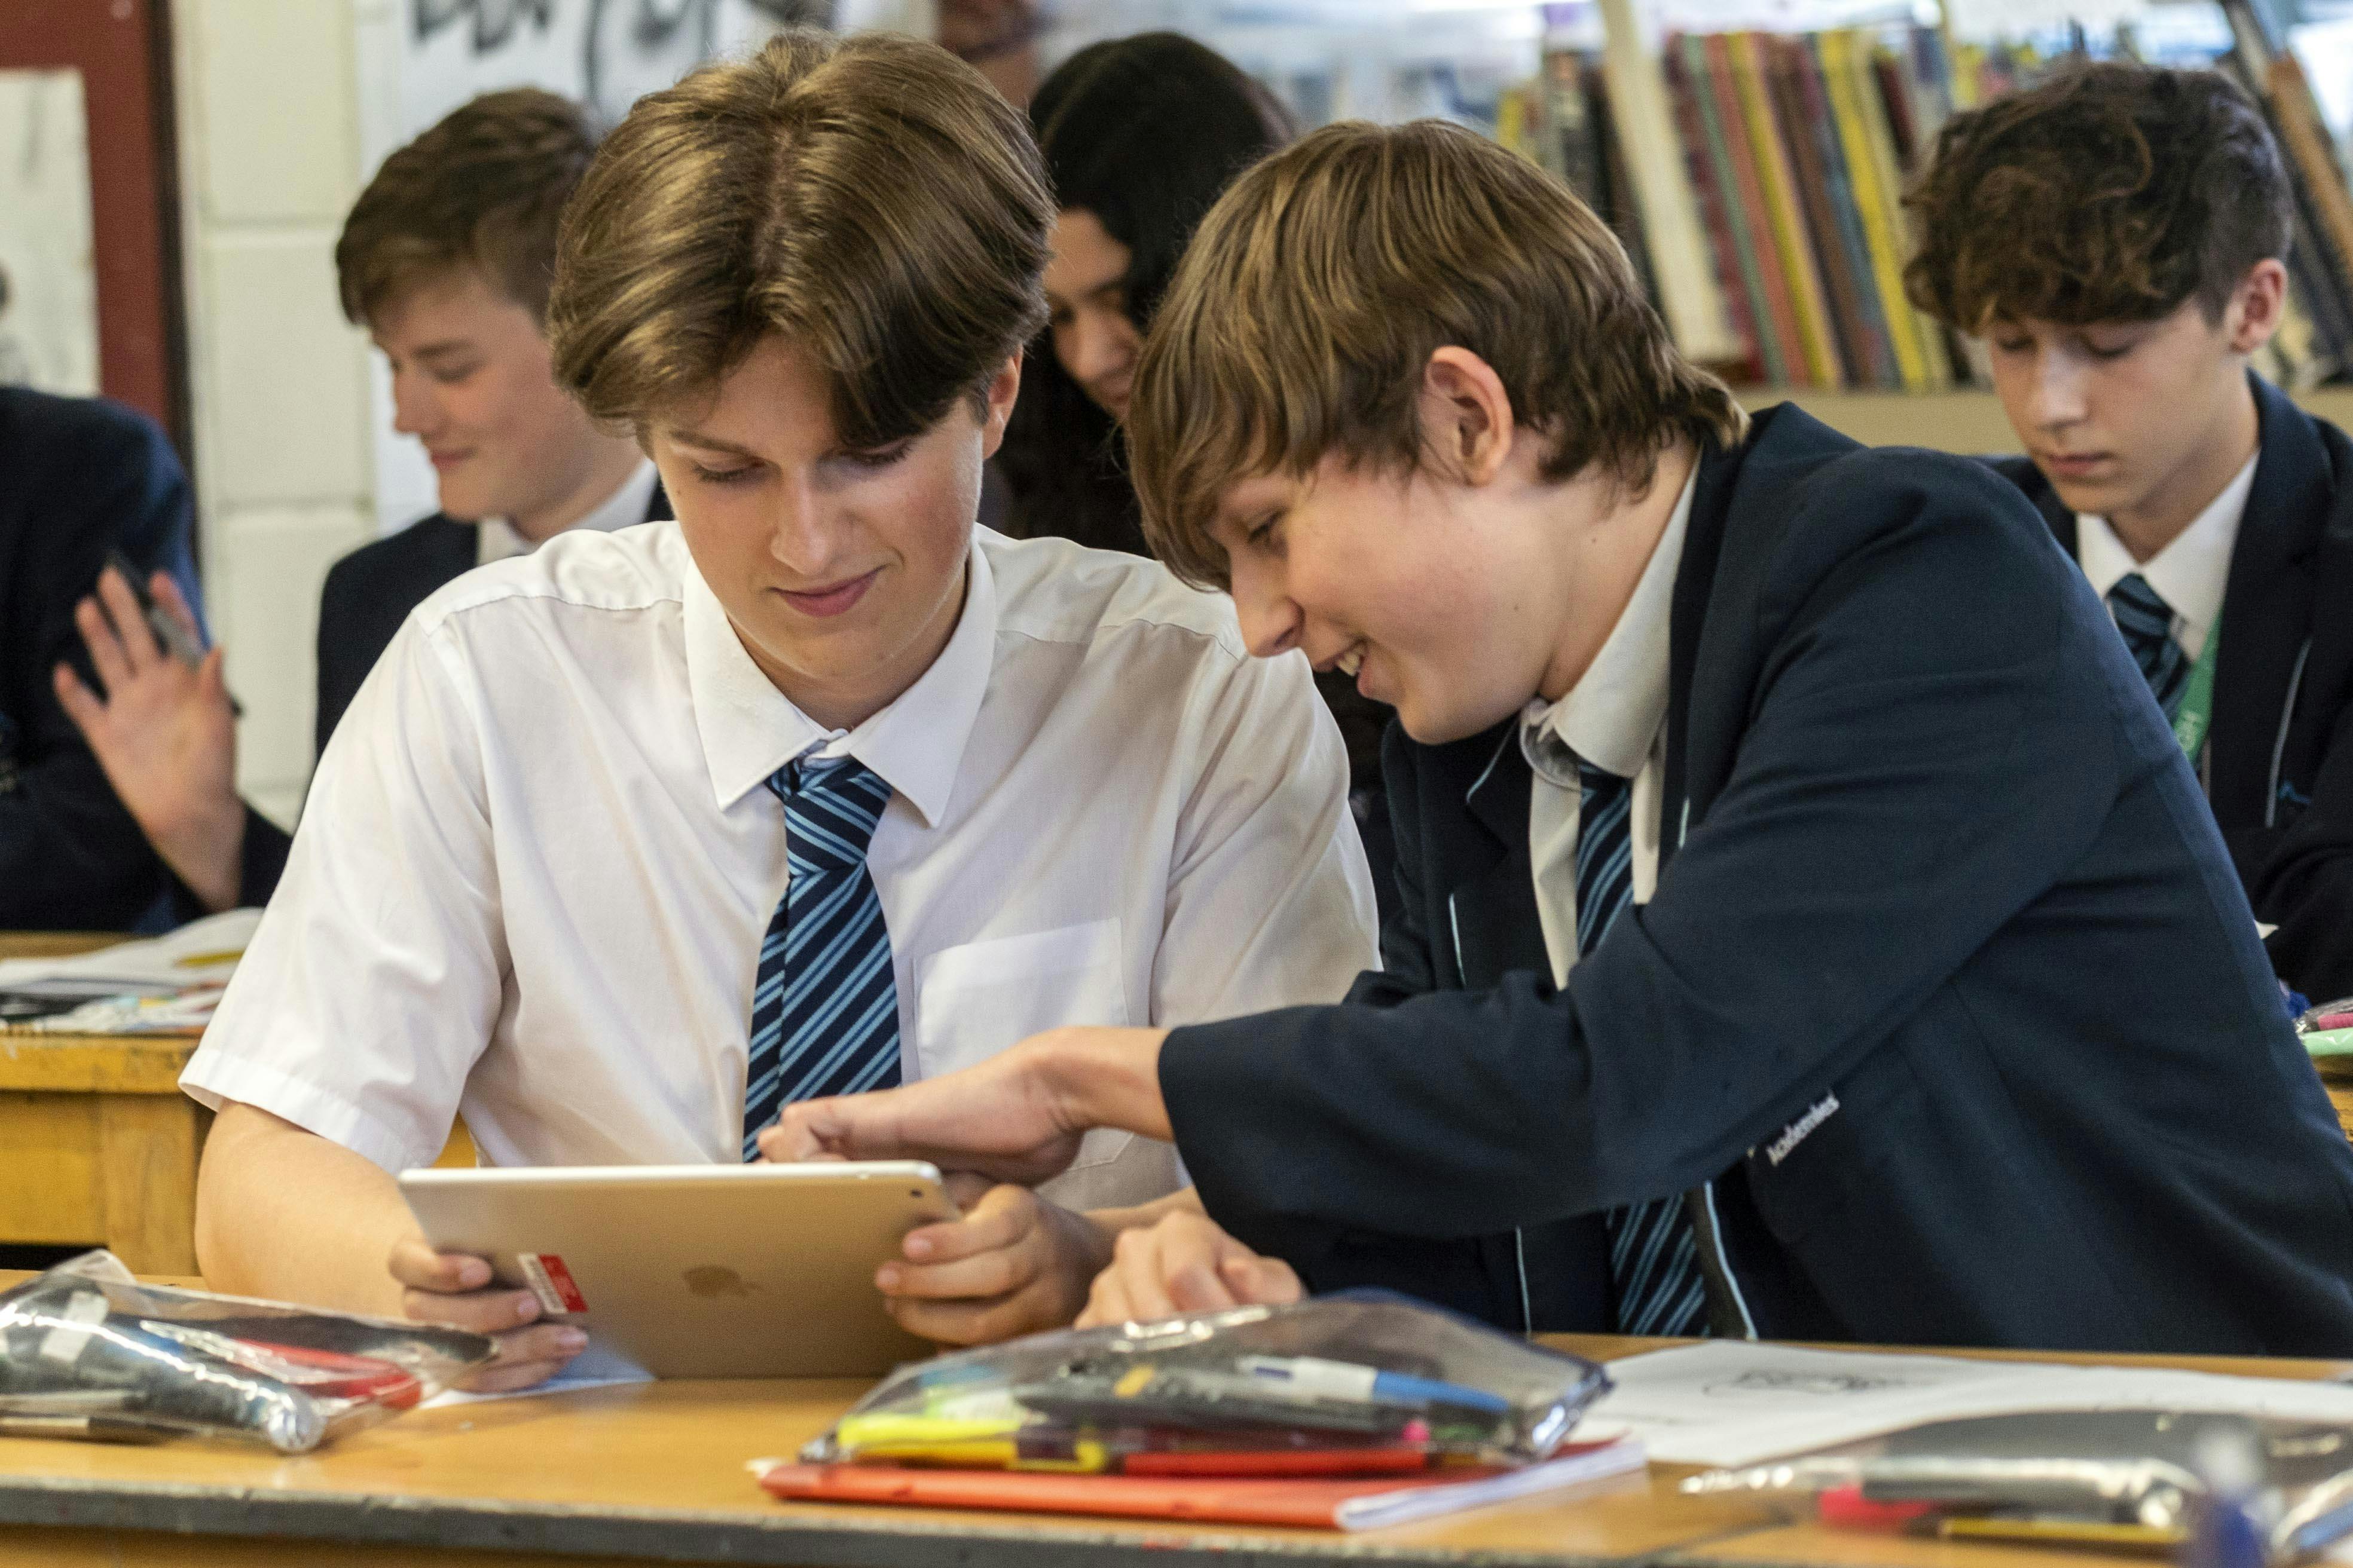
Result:
{"label": "navy blazer of smiling background boy left of the white-shirted boy", "polygon": [[[654,484],[647,522],[668,522],[671,498]],[[327,569],[318,595],[318,755],[344,722],[360,682],[384,658],[409,611],[445,583],[473,571],[482,531],[447,512],[421,517],[398,534],[360,545]],[[245,809],[245,863],[238,867],[238,903],[268,903],[285,875],[287,830],[252,806]]]}

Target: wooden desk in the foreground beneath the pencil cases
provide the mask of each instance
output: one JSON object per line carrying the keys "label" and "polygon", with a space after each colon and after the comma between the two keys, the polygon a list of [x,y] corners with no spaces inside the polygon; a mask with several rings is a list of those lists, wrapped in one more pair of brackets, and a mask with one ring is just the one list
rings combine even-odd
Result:
{"label": "wooden desk in the foreground beneath the pencil cases", "polygon": [[[5,1279],[0,1279],[5,1284]],[[1614,1359],[1657,1340],[1560,1338]],[[2132,1356],[2047,1356],[2134,1361]],[[2320,1378],[2320,1361],[2162,1361]],[[612,1561],[958,1563],[962,1568],[2097,1568],[1998,1544],[1824,1533],[1802,1509],[1685,1497],[1652,1467],[1555,1497],[1395,1530],[1238,1526],[784,1505],[746,1460],[788,1455],[864,1392],[854,1382],[664,1382],[402,1415],[311,1458],[226,1446],[106,1448],[0,1439],[0,1568],[99,1563],[365,1563],[586,1568]],[[2113,1561],[2113,1559],[2111,1559]]]}

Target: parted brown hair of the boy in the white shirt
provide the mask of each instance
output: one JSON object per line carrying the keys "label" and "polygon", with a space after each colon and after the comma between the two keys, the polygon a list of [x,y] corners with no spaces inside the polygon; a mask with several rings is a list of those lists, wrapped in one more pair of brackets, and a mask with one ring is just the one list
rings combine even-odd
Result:
{"label": "parted brown hair of the boy in the white shirt", "polygon": [[647,94],[565,214],[555,381],[645,425],[769,334],[873,449],[976,397],[1045,324],[1054,230],[1028,122],[939,45],[786,31]]}

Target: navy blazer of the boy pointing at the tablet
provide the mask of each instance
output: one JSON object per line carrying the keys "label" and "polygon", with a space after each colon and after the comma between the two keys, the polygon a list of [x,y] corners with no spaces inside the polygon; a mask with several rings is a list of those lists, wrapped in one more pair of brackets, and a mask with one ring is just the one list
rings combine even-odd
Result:
{"label": "navy blazer of the boy pointing at the tablet", "polygon": [[1209,1213],[1607,1328],[1598,1215],[1692,1192],[1762,1335],[2353,1352],[2353,1147],[2017,489],[1772,409],[1701,458],[1671,644],[1657,896],[1560,990],[1513,724],[1393,738],[1388,973],[1162,1051]]}

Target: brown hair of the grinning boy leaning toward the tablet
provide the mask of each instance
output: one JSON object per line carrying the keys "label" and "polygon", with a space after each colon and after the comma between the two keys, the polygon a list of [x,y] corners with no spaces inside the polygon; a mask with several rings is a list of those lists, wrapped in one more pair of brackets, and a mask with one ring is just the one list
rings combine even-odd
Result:
{"label": "brown hair of the grinning boy leaning toward the tablet", "polygon": [[1127,416],[1153,550],[1226,585],[1209,527],[1235,480],[1329,454],[1417,470],[1421,371],[1449,343],[1551,440],[1553,482],[1600,463],[1640,491],[1675,437],[1744,428],[1567,186],[1438,120],[1329,125],[1219,197],[1153,317]]}

